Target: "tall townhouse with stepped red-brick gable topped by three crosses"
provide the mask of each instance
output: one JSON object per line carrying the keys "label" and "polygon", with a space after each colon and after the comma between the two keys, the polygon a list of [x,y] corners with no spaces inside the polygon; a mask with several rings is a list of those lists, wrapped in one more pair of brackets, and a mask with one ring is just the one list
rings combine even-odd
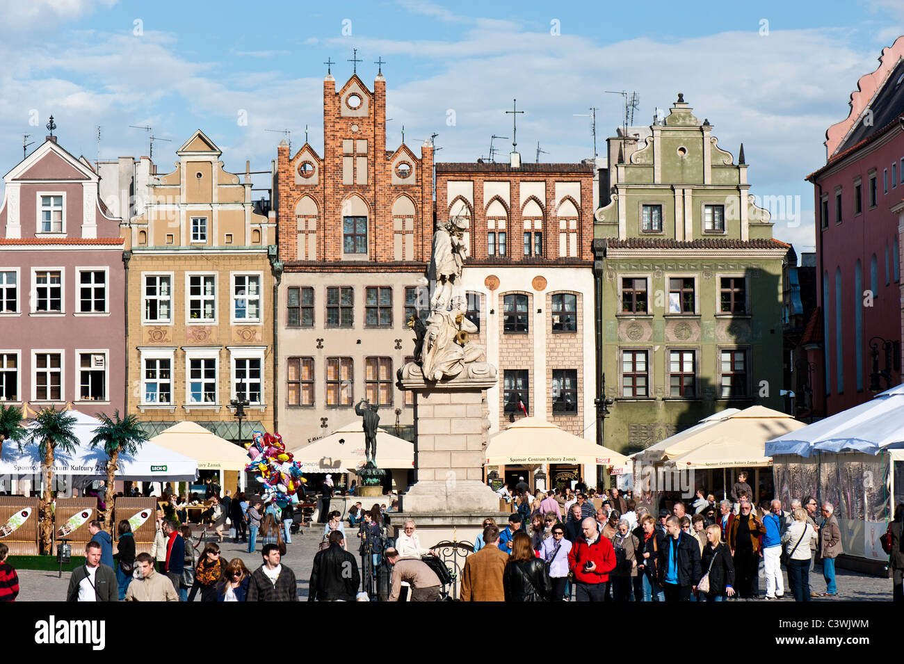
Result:
{"label": "tall townhouse with stepped red-brick gable topped by three crosses", "polygon": [[[324,79],[323,154],[278,147],[279,420],[292,444],[358,418],[410,437],[411,397],[395,371],[413,351],[407,321],[428,304],[433,147],[386,148],[386,80]],[[393,426],[399,424],[400,429]],[[405,479],[396,478],[404,489]]]}

